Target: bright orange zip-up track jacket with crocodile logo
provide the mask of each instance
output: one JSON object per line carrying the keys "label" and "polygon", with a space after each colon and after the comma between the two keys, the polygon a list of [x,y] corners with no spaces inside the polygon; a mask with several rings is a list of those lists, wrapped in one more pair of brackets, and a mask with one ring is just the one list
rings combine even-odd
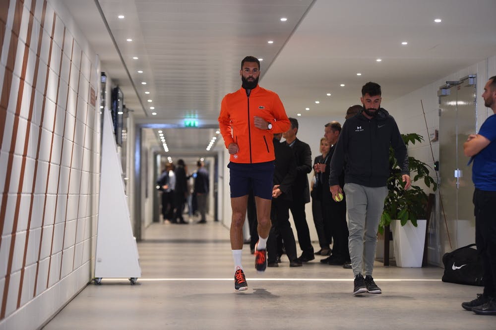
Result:
{"label": "bright orange zip-up track jacket with crocodile logo", "polygon": [[[272,124],[272,129],[254,126],[253,117],[259,116]],[[247,96],[240,88],[222,99],[219,125],[226,148],[231,143],[239,152],[231,155],[233,163],[264,163],[275,159],[273,134],[286,132],[291,126],[279,96],[258,85]]]}

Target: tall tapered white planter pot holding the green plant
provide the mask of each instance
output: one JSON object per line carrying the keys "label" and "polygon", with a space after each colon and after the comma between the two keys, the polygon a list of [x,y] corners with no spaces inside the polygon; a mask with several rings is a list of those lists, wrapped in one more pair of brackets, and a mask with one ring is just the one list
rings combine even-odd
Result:
{"label": "tall tapered white planter pot holding the green plant", "polygon": [[391,221],[394,259],[398,267],[422,267],[427,220],[417,220],[417,227],[408,221],[404,226],[400,220]]}

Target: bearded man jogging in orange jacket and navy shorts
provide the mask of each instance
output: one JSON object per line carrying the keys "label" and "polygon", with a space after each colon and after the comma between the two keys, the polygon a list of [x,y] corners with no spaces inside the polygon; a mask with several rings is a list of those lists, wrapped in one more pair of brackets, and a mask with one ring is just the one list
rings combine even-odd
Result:
{"label": "bearded man jogging in orange jacket and navy shorts", "polygon": [[241,253],[243,223],[247,212],[248,193],[255,196],[258,220],[258,242],[255,245],[255,269],[267,267],[266,242],[270,231],[270,204],[274,175],[274,133],[287,131],[288,116],[279,96],[258,86],[260,61],[247,56],[241,61],[242,88],[227,94],[219,115],[220,131],[229,151],[231,207],[231,248],[234,259],[234,288],[248,289]]}

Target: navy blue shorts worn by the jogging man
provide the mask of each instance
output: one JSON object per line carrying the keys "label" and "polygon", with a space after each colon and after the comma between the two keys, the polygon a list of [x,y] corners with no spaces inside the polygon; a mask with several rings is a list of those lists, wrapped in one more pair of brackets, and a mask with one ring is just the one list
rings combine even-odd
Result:
{"label": "navy blue shorts worn by the jogging man", "polygon": [[274,187],[274,161],[254,164],[230,162],[231,198],[242,197],[253,189],[253,195],[264,199],[272,199]]}

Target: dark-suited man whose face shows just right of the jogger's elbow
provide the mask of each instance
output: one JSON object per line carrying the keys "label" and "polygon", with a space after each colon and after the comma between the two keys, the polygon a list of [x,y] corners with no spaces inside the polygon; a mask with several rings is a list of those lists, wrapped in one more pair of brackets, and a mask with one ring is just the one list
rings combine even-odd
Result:
{"label": "dark-suited man whose face shows just right of the jogger's elbow", "polygon": [[310,230],[305,214],[305,204],[310,203],[310,188],[307,174],[311,171],[311,150],[310,146],[298,140],[298,120],[289,118],[291,127],[282,136],[286,139],[285,143],[293,149],[296,156],[297,174],[293,184],[293,203],[291,203],[291,214],[295,221],[296,231],[298,233],[298,243],[302,249],[302,255],[298,258],[301,262],[308,262],[315,259],[313,255],[313,246],[310,241]]}

